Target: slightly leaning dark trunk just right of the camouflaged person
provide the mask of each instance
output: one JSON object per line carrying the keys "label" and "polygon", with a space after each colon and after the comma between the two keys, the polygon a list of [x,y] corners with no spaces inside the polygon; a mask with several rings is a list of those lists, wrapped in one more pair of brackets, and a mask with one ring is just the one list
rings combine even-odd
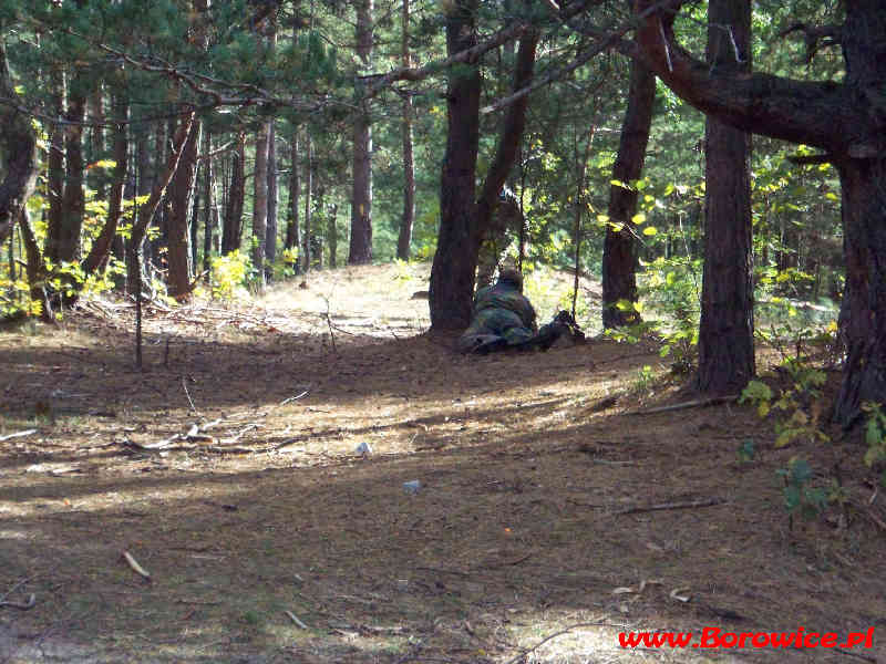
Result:
{"label": "slightly leaning dark trunk just right of the camouflaged person", "polygon": [[[612,166],[612,179],[629,184],[640,178],[646,160],[646,146],[652,124],[656,100],[656,76],[638,61],[630,64],[628,108],[621,123],[618,156]],[[602,246],[602,326],[620,328],[640,322],[637,311],[619,308],[624,301],[637,302],[637,251],[633,222],[637,214],[637,191],[611,185],[609,188],[609,222]],[[611,224],[621,225],[616,229]]]}

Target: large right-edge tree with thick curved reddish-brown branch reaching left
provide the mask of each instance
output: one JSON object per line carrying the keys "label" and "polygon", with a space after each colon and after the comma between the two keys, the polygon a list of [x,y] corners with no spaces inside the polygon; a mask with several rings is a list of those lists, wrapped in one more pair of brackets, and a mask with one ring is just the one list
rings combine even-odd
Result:
{"label": "large right-edge tree with thick curved reddish-brown branch reaching left", "polygon": [[845,315],[843,385],[834,408],[853,424],[864,402],[886,403],[886,12],[876,0],[845,2],[834,31],[846,64],[843,82],[793,81],[711,70],[676,43],[682,2],[638,0],[637,55],[683,100],[736,128],[823,149],[843,188]]}

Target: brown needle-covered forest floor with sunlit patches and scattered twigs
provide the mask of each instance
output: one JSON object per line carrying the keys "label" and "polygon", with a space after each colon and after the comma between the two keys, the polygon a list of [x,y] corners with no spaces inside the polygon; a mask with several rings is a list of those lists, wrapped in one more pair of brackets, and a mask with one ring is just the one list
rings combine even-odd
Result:
{"label": "brown needle-covered forest floor with sunlit patches and scattered twigs", "polygon": [[[886,662],[856,435],[776,448],[750,406],[650,412],[694,398],[651,341],[462,356],[411,299],[426,274],[148,307],[142,372],[124,301],[0,330],[0,663]],[[570,280],[546,288],[543,319]],[[843,509],[791,523],[794,456]],[[618,640],[705,627],[839,649]]]}

